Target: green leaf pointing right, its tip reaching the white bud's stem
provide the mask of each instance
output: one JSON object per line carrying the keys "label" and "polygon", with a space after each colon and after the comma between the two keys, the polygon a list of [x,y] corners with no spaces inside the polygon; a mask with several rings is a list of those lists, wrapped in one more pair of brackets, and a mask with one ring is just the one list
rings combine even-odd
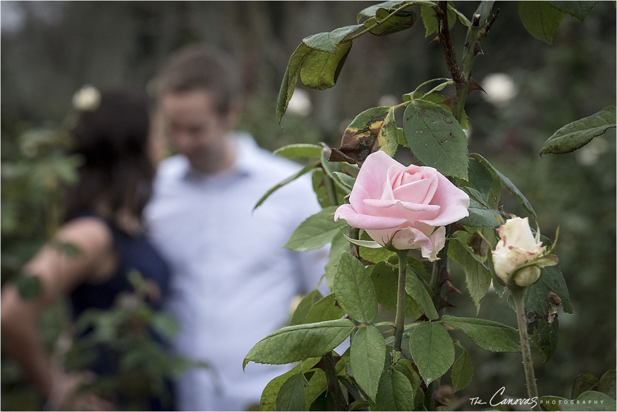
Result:
{"label": "green leaf pointing right, its tip reaching the white bud's stem", "polygon": [[471,342],[491,352],[521,352],[518,332],[499,322],[444,315],[441,321],[470,337]]}

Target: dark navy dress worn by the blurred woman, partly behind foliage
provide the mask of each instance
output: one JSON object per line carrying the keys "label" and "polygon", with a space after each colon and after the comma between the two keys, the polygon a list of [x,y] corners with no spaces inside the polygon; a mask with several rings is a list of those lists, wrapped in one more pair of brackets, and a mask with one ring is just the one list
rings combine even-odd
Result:
{"label": "dark navy dress worn by the blurred woman, partly behind foliage", "polygon": [[[94,213],[83,213],[79,217],[97,217]],[[162,300],[165,299],[165,295],[168,292],[169,275],[170,271],[167,263],[154,249],[151,242],[147,239],[145,234],[138,234],[131,236],[122,230],[120,230],[114,223],[104,220],[109,227],[115,252],[118,258],[118,267],[114,275],[106,281],[99,283],[84,283],[75,288],[70,294],[70,301],[72,303],[73,318],[78,317],[86,310],[100,309],[106,310],[114,306],[115,300],[118,295],[123,293],[133,292],[133,286],[128,279],[128,274],[131,271],[139,271],[142,278],[146,281],[154,282],[160,291],[160,299],[154,302],[148,302],[155,310],[160,309]],[[88,339],[89,331],[81,337],[82,339]],[[155,342],[167,347],[165,342],[160,337],[151,333],[152,339]],[[96,346],[96,360],[93,364],[89,365],[89,370],[96,373],[98,376],[114,375],[118,371],[118,356],[110,352],[108,348]],[[165,386],[171,394],[170,382],[166,382]],[[120,403],[118,405],[126,407],[125,400],[122,397],[115,400]],[[149,410],[169,410],[171,399],[160,400],[158,398],[144,399],[147,409]]]}

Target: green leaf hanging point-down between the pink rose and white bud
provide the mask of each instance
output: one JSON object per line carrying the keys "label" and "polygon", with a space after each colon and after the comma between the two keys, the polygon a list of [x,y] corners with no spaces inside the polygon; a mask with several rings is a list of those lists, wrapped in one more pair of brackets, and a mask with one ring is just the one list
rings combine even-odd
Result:
{"label": "green leaf hanging point-down between the pink rose and white bud", "polygon": [[467,290],[476,305],[476,311],[480,311],[480,301],[486,295],[491,286],[491,270],[482,263],[482,258],[478,257],[471,249],[466,246],[468,235],[457,233],[457,238],[450,241],[448,247],[448,257],[457,262],[465,272],[465,283]]}

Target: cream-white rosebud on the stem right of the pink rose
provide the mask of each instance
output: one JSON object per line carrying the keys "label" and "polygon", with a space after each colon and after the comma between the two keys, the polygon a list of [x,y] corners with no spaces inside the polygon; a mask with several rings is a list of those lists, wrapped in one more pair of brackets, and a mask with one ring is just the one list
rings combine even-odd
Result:
{"label": "cream-white rosebud on the stem right of the pink rose", "polygon": [[493,251],[493,266],[506,286],[512,281],[520,287],[534,284],[544,266],[557,265],[557,256],[542,246],[540,231],[534,238],[528,218],[508,219],[497,232],[501,240]]}

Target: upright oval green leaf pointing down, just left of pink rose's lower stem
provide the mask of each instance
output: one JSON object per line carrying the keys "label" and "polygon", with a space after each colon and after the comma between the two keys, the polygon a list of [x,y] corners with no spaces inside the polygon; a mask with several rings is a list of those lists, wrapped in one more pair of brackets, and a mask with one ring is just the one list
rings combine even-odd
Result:
{"label": "upright oval green leaf pointing down, just left of pink rose's lower stem", "polygon": [[384,337],[375,326],[364,326],[355,332],[350,352],[355,382],[371,400],[375,400],[386,360]]}

